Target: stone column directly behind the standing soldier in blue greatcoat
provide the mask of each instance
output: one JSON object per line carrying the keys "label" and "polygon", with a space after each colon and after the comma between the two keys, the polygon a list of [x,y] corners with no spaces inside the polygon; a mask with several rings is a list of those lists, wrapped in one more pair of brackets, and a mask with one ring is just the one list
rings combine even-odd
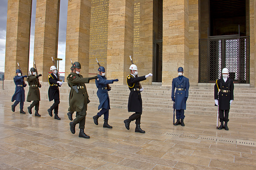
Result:
{"label": "stone column directly behind the standing soldier in blue greatcoat", "polygon": [[178,68],[189,75],[188,0],[163,0],[162,85],[172,85]]}

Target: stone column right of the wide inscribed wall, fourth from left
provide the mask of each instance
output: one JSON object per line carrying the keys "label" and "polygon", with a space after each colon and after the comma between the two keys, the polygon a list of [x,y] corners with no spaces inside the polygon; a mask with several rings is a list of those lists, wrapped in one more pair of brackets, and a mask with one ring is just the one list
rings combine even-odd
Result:
{"label": "stone column right of the wide inscribed wall, fourth from left", "polygon": [[107,76],[126,84],[133,54],[133,1],[109,1]]}

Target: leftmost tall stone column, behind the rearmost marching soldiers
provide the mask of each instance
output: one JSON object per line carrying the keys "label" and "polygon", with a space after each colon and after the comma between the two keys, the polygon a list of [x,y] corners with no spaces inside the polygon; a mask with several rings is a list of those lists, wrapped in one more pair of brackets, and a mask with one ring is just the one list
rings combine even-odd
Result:
{"label": "leftmost tall stone column, behind the rearmost marching soldiers", "polygon": [[19,62],[24,75],[28,73],[32,0],[9,0],[6,31],[5,80],[16,75]]}

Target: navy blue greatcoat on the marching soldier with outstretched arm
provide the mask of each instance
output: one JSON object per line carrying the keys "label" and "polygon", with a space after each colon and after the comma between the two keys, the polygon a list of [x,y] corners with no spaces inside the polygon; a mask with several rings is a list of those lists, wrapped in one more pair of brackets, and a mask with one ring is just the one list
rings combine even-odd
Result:
{"label": "navy blue greatcoat on the marching soldier with outstretched arm", "polygon": [[107,80],[105,76],[98,74],[98,79],[95,79],[95,84],[98,88],[97,96],[100,100],[100,105],[98,109],[110,109],[109,103],[109,93],[107,89],[107,84],[113,84],[113,80]]}

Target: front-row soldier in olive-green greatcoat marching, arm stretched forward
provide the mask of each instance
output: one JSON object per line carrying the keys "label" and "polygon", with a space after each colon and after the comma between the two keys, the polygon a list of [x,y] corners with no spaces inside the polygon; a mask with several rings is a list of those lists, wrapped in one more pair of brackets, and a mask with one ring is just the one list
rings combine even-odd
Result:
{"label": "front-row soldier in olive-green greatcoat marching, arm stretched forward", "polygon": [[89,83],[92,79],[97,79],[98,76],[83,78],[79,73],[81,65],[74,62],[71,67],[71,73],[67,77],[67,82],[71,87],[69,93],[69,110],[70,112],[76,111],[76,118],[69,123],[71,133],[75,133],[75,125],[79,123],[79,137],[90,138],[84,133],[84,125],[86,123],[87,104],[90,102],[89,95],[84,83]]}

